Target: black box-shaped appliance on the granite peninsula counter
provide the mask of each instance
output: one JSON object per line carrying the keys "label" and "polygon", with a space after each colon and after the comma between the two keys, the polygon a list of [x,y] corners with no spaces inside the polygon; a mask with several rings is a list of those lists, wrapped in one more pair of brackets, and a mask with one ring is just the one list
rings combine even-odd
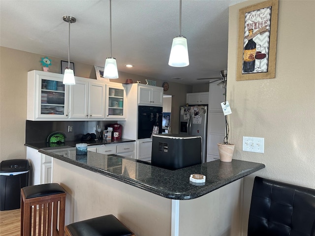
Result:
{"label": "black box-shaped appliance on the granite peninsula counter", "polygon": [[151,164],[168,170],[201,164],[201,149],[200,136],[155,134]]}

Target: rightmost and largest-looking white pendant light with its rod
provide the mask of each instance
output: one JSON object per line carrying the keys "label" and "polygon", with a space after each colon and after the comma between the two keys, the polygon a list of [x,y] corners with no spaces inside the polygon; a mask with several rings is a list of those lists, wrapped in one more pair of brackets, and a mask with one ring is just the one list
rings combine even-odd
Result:
{"label": "rightmost and largest-looking white pendant light with its rod", "polygon": [[175,67],[189,65],[187,39],[182,35],[182,0],[179,1],[179,35],[173,38],[168,64]]}

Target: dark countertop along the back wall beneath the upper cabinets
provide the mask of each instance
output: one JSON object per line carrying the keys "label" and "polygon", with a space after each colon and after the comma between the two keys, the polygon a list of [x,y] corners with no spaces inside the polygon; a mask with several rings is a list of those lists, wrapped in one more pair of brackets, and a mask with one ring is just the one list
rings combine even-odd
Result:
{"label": "dark countertop along the back wall beneath the upper cabinets", "polygon": [[51,144],[46,142],[38,142],[38,143],[26,143],[25,146],[35,149],[40,148],[56,148],[56,147],[75,147],[76,144],[88,144],[91,145],[102,145],[102,144],[119,144],[119,143],[127,143],[127,142],[135,142],[132,139],[121,139],[119,141],[107,142],[106,140],[98,139],[98,140],[89,140],[89,141],[65,141],[65,143],[61,144]]}

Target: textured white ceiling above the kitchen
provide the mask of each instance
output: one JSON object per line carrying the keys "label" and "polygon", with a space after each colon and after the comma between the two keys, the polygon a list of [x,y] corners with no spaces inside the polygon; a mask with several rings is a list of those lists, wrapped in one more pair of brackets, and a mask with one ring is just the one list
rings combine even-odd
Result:
{"label": "textured white ceiling above the kitchen", "polygon": [[[179,1],[112,0],[112,56],[118,70],[183,84],[220,77],[227,68],[228,6],[241,1],[183,0],[182,34],[190,64],[171,67]],[[70,60],[103,67],[110,57],[108,0],[0,0],[0,45],[67,60],[64,15],[77,19],[71,24]]]}

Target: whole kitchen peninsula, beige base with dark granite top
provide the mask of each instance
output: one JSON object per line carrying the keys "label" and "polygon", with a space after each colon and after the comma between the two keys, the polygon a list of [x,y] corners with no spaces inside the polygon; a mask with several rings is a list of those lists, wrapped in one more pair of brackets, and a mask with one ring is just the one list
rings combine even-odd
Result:
{"label": "whole kitchen peninsula, beige base with dark granite top", "polygon": [[[75,148],[42,148],[53,181],[67,192],[65,224],[114,214],[138,236],[224,235],[240,230],[242,178],[265,166],[216,160],[170,171],[139,160]],[[190,174],[206,176],[204,185]]]}

